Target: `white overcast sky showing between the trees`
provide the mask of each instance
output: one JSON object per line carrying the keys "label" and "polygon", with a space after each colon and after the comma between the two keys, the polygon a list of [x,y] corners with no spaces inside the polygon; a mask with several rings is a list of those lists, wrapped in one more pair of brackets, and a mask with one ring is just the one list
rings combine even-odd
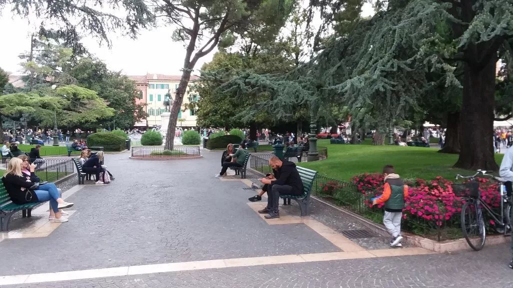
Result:
{"label": "white overcast sky showing between the trees", "polygon": [[[362,16],[369,16],[372,7],[366,4]],[[0,16],[0,39],[7,43],[0,45],[0,67],[15,75],[22,74],[20,53],[30,50],[30,34],[37,31],[35,23],[21,17],[12,18],[9,11]],[[84,37],[82,43],[96,57],[105,61],[111,70],[122,71],[126,75],[146,75],[146,73],[181,75],[185,48],[183,43],[171,40],[171,27],[143,30],[136,39],[110,33],[112,47],[100,46],[93,37]],[[212,60],[216,50],[202,57],[196,64],[198,71],[204,63]],[[193,72],[194,73],[194,72]]]}

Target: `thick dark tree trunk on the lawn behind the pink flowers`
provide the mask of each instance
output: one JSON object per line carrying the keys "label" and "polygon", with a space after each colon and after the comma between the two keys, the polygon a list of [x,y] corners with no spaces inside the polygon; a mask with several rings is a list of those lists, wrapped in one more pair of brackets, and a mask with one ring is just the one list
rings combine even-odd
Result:
{"label": "thick dark tree trunk on the lawn behind the pink flowers", "polygon": [[[478,52],[481,49],[475,49]],[[482,53],[477,53],[480,55]],[[466,170],[497,171],[494,151],[495,76],[497,53],[481,67],[465,63],[461,109],[461,152],[454,165]]]}

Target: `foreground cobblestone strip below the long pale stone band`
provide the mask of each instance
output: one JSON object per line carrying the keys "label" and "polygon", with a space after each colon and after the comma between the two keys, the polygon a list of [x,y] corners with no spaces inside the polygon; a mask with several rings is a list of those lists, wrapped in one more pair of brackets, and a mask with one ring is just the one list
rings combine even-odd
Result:
{"label": "foreground cobblestone strip below the long pale stone band", "polygon": [[507,267],[508,245],[481,252],[351,259],[156,273],[66,282],[5,286],[59,287],[343,287],[343,288],[506,288],[513,287]]}

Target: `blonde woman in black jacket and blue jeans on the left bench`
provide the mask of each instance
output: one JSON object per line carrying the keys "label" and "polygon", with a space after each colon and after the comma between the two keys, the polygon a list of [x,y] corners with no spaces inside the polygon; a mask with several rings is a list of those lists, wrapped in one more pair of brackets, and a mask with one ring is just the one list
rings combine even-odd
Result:
{"label": "blonde woman in black jacket and blue jeans on the left bench", "polygon": [[[61,215],[59,209],[70,208],[73,203],[65,202],[59,194],[57,187],[53,183],[47,183],[40,187],[33,188],[34,182],[23,175],[23,161],[20,158],[12,158],[7,165],[7,170],[2,177],[7,194],[11,201],[18,205],[26,203],[36,203],[50,201],[53,213],[55,214],[54,222],[68,222],[68,219]],[[35,168],[33,165],[32,168]]]}

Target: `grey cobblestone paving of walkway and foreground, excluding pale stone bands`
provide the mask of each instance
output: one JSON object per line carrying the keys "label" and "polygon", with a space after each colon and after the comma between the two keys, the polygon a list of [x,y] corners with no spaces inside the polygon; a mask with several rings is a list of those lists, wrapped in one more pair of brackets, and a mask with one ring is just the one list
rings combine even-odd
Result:
{"label": "grey cobblestone paving of walkway and foreground, excluding pale stone bands", "polygon": [[[211,259],[340,252],[305,224],[269,225],[241,181],[214,179],[222,152],[203,159],[141,161],[107,155],[116,180],[71,195],[76,212],[48,237],[0,242],[6,275]],[[257,175],[248,173],[250,180]],[[71,187],[76,178],[62,183]],[[244,189],[246,188],[246,189]],[[283,207],[299,215],[293,204]],[[338,232],[363,227],[313,201],[311,218]],[[25,219],[15,219],[25,221]],[[14,224],[14,223],[13,223]],[[15,227],[15,225],[13,225]],[[351,239],[368,250],[383,237]],[[509,243],[481,252],[267,264],[237,268],[7,285],[35,287],[513,287]],[[168,270],[169,271],[169,270]]]}

